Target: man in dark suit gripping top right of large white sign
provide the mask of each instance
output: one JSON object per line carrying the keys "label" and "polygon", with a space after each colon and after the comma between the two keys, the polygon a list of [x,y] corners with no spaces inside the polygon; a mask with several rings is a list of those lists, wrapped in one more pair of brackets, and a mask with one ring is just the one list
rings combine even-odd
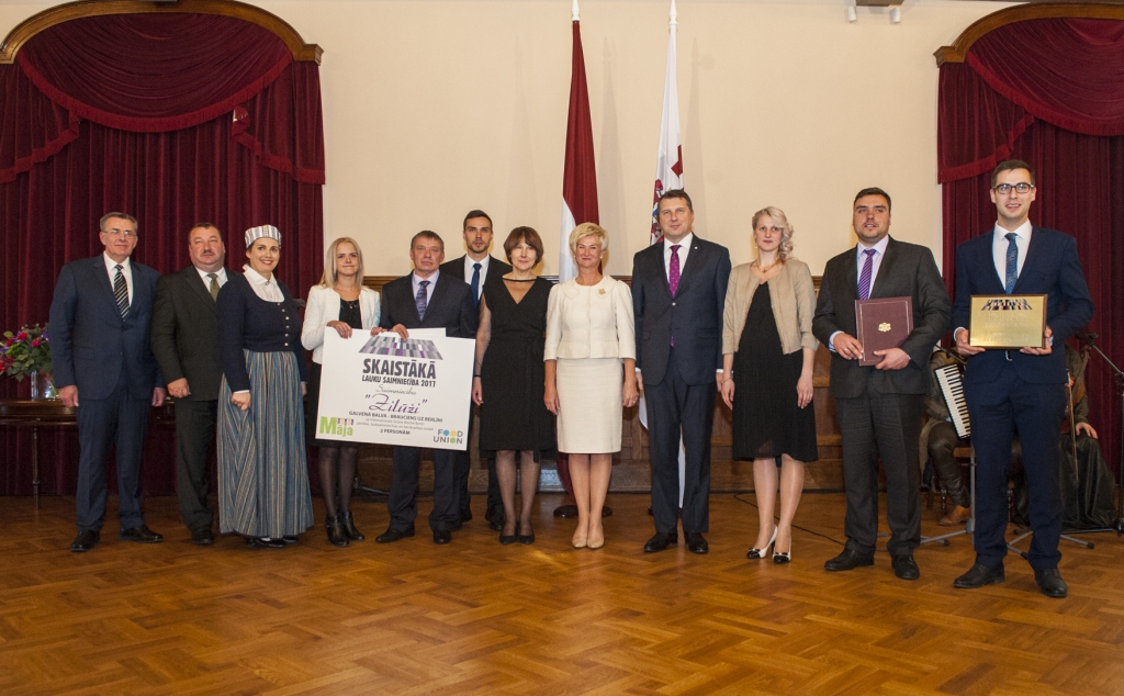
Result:
{"label": "man in dark suit gripping top right of large white sign", "polygon": [[[469,286],[438,269],[445,259],[445,243],[428,229],[410,239],[414,272],[392,280],[382,288],[382,317],[379,326],[393,331],[402,338],[411,328],[444,328],[446,336],[474,338],[478,316]],[[452,532],[460,528],[460,492],[456,487],[455,450],[433,451],[433,513],[429,527],[435,544],[447,544]],[[393,474],[387,507],[390,527],[375,541],[380,544],[414,536],[414,519],[418,514],[416,499],[419,448],[396,445]]]}

